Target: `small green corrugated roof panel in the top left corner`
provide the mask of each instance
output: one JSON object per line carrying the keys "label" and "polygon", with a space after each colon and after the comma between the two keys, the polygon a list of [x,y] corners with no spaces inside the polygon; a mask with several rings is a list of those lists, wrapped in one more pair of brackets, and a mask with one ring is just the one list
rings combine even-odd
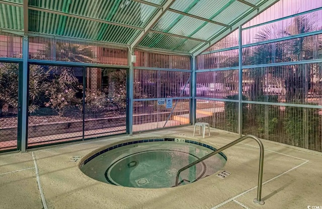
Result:
{"label": "small green corrugated roof panel in the top left corner", "polygon": [[23,17],[22,8],[0,4],[0,28],[23,30]]}

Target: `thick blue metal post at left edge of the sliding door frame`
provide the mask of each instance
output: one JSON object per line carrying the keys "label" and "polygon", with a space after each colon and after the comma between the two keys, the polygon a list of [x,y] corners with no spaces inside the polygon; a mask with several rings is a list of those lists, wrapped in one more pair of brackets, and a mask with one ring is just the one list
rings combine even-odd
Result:
{"label": "thick blue metal post at left edge of the sliding door frame", "polygon": [[23,70],[22,70],[22,106],[21,106],[21,151],[26,152],[28,138],[28,36],[23,38]]}

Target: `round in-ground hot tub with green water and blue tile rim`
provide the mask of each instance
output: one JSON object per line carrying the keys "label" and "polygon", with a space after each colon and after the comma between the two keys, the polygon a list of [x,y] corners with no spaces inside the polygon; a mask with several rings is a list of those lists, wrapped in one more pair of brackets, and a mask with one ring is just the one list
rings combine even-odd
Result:
{"label": "round in-ground hot tub with green water and blue tile rim", "polygon": [[[214,150],[210,145],[186,139],[140,139],[94,152],[83,159],[80,168],[89,177],[113,185],[173,187],[179,169]],[[181,172],[179,185],[216,173],[226,161],[226,156],[218,153],[188,168]]]}

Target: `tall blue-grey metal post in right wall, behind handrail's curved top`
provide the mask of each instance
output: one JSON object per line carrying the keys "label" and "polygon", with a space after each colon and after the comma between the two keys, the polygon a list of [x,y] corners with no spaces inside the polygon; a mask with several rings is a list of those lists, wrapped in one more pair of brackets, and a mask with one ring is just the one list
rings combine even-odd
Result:
{"label": "tall blue-grey metal post in right wall, behind handrail's curved top", "polygon": [[243,31],[238,27],[238,134],[243,135]]}

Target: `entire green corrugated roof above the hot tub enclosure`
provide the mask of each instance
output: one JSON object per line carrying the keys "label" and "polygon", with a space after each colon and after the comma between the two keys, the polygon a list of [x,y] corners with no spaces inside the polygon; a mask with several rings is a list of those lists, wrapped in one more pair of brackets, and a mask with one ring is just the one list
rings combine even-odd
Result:
{"label": "entire green corrugated roof above the hot tub enclosure", "polygon": [[[237,0],[175,0],[170,11],[158,13],[160,6],[164,6],[166,2],[166,0],[29,0],[29,32],[123,46],[131,45],[139,38],[142,40],[139,43],[141,47],[196,53],[209,45],[200,40],[213,44],[231,30],[235,30],[238,25],[257,15],[256,9]],[[276,0],[246,0],[246,2],[258,6],[259,10],[263,11]],[[13,6],[15,4],[18,4],[17,7]],[[157,14],[163,15],[158,17]],[[232,28],[225,28],[204,19],[226,24]],[[152,20],[156,24],[151,22]],[[153,27],[154,31],[168,34],[153,31],[146,33],[150,27]],[[23,0],[1,1],[0,28],[23,31]],[[143,36],[138,37],[139,34]]]}

